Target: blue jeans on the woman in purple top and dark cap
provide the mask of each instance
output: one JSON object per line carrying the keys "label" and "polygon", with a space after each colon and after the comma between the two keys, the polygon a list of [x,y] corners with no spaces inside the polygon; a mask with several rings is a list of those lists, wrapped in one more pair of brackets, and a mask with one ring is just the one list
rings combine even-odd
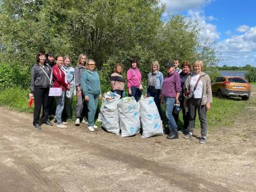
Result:
{"label": "blue jeans on the woman in purple top and dark cap", "polygon": [[172,130],[170,131],[177,132],[178,126],[172,115],[174,104],[175,104],[175,97],[164,97],[164,107],[166,110],[165,114],[168,119],[168,123],[171,125],[171,128],[172,128]]}

